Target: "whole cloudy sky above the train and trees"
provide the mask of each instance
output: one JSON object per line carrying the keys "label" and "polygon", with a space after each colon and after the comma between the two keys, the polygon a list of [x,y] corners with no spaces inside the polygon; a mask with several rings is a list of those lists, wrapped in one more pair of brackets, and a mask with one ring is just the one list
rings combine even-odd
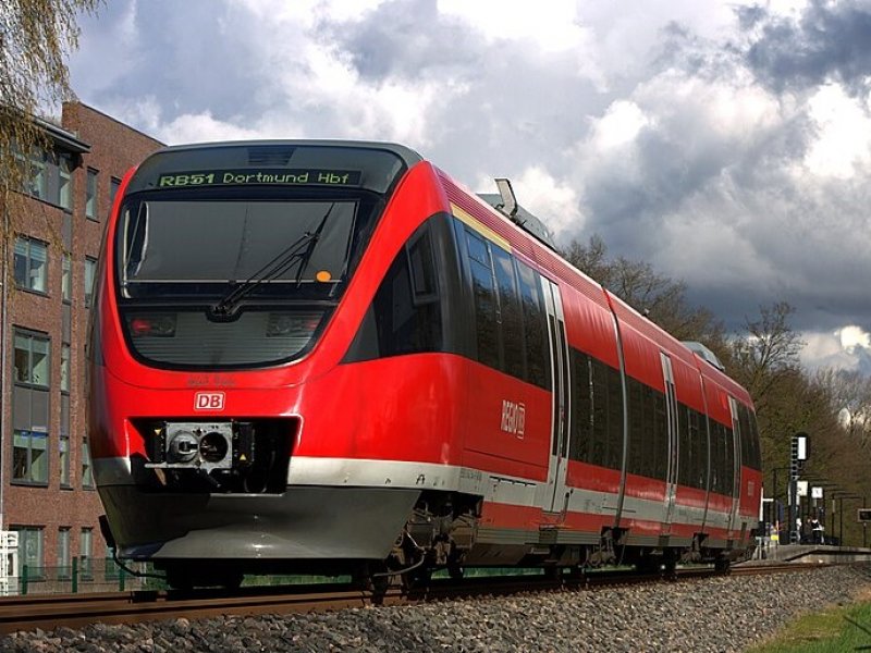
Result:
{"label": "whole cloudy sky above the train and trees", "polygon": [[871,2],[112,0],[78,98],[167,144],[359,138],[559,245],[687,284],[731,330],[788,301],[803,362],[871,374]]}

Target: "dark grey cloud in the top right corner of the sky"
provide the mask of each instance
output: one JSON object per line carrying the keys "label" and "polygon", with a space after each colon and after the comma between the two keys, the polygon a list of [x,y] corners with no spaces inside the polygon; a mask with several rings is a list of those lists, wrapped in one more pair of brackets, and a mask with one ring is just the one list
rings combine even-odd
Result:
{"label": "dark grey cloud in the top right corner of the sky", "polygon": [[854,94],[871,88],[871,8],[864,2],[812,0],[799,19],[753,7],[738,10],[745,29],[761,37],[747,52],[760,79],[776,91],[837,81]]}

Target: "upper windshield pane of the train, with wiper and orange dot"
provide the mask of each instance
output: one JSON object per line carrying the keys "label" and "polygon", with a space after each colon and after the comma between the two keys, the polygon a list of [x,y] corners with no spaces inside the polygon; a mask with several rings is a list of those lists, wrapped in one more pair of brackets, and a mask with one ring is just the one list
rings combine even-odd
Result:
{"label": "upper windshield pane of the train, with wiper and orange dot", "polygon": [[135,202],[119,231],[121,294],[328,298],[357,211],[353,200]]}

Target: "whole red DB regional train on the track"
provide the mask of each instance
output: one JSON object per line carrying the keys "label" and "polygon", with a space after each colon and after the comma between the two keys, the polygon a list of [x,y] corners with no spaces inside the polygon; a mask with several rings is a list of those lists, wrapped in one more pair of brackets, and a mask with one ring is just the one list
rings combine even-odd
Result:
{"label": "whole red DB regional train on the track", "polygon": [[88,357],[119,555],[175,586],[744,555],[747,392],[493,204],[388,144],[131,171]]}

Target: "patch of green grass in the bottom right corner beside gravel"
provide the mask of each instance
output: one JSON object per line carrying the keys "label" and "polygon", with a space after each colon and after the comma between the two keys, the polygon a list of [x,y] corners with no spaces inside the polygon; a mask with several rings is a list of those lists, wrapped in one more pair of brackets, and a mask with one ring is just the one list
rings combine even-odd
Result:
{"label": "patch of green grass in the bottom right corner beside gravel", "polygon": [[799,617],[748,653],[871,651],[871,593],[859,603]]}

